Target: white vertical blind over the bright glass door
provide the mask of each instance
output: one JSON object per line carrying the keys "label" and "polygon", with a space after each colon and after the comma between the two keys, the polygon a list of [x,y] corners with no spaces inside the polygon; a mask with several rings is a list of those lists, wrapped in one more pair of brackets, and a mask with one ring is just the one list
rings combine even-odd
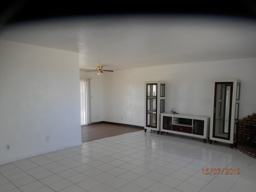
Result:
{"label": "white vertical blind over the bright glass door", "polygon": [[91,124],[90,79],[80,79],[81,126]]}

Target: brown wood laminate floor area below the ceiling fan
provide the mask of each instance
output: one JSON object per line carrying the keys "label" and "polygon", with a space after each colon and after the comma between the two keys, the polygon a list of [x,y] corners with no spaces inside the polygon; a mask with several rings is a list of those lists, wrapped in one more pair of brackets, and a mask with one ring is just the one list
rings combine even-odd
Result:
{"label": "brown wood laminate floor area below the ceiling fan", "polygon": [[113,124],[94,124],[89,126],[82,126],[82,142],[93,141],[101,138],[112,137],[122,135],[125,133],[131,133],[135,131],[141,131],[140,128],[119,126]]}

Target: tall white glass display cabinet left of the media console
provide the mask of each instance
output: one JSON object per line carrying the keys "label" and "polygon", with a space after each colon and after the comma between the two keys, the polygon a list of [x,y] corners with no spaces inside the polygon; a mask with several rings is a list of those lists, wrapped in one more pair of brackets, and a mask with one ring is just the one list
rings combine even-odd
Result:
{"label": "tall white glass display cabinet left of the media console", "polygon": [[165,82],[145,82],[145,132],[147,129],[160,132],[160,113],[165,112]]}

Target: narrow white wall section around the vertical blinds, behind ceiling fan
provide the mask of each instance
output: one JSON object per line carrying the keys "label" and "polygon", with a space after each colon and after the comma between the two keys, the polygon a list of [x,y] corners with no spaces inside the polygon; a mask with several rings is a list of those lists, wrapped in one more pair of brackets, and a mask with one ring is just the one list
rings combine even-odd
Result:
{"label": "narrow white wall section around the vertical blinds, behind ceiling fan", "polygon": [[104,120],[103,115],[103,82],[104,76],[98,77],[97,72],[86,72],[80,70],[80,76],[91,77],[91,122],[100,122]]}

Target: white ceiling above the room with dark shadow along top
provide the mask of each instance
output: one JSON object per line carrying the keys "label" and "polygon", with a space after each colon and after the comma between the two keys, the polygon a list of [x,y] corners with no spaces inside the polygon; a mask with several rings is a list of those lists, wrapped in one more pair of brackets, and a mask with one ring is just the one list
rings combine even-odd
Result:
{"label": "white ceiling above the room with dark shadow along top", "polygon": [[256,21],[213,15],[62,17],[9,24],[0,39],[77,52],[106,70],[256,57]]}

